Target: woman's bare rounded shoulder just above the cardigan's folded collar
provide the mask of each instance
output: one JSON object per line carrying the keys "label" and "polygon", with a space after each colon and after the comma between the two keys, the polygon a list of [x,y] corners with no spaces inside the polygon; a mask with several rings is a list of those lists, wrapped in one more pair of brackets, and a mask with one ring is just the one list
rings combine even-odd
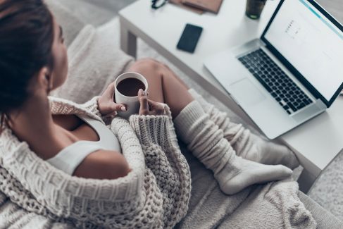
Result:
{"label": "woman's bare rounded shoulder just above the cardigan's folded collar", "polygon": [[129,164],[118,151],[98,150],[89,154],[73,175],[82,178],[116,179],[130,172]]}

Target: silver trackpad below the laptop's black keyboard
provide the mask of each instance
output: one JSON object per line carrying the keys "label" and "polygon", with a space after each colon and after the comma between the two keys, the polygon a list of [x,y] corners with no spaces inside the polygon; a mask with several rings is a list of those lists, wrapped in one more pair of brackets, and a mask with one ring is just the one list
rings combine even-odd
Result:
{"label": "silver trackpad below the laptop's black keyboard", "polygon": [[230,93],[239,104],[257,104],[266,99],[258,88],[248,79],[244,78],[230,85]]}

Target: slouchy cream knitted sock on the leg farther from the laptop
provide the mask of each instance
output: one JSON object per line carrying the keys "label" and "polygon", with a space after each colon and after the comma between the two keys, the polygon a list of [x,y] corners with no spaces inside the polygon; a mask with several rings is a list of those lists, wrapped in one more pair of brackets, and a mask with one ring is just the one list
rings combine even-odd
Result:
{"label": "slouchy cream knitted sock on the leg farther from the laptop", "polygon": [[209,118],[198,101],[192,101],[174,120],[180,139],[206,168],[213,171],[220,189],[235,194],[249,185],[281,180],[292,174],[285,166],[268,166],[236,156],[223,130]]}

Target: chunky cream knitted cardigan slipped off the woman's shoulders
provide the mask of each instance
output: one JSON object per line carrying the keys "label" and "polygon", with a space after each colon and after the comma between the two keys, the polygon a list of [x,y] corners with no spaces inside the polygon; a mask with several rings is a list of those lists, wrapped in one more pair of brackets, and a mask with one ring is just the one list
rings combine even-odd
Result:
{"label": "chunky cream knitted cardigan slipped off the woman's shoulders", "polygon": [[[49,98],[53,114],[87,114],[100,120],[97,99],[75,104]],[[173,228],[190,197],[189,166],[177,144],[170,111],[164,116],[113,118],[130,171],[116,180],[70,176],[20,142],[9,128],[0,135],[0,190],[30,212],[82,228]]]}

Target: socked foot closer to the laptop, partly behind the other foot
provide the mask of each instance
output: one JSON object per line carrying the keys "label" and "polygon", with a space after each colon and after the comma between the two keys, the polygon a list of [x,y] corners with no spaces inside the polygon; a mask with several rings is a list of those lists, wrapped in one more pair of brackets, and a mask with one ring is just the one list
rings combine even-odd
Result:
{"label": "socked foot closer to the laptop, partly behind the other foot", "polygon": [[[245,146],[242,146],[242,144],[245,144]],[[236,149],[238,156],[242,156],[242,158],[250,161],[266,165],[280,164],[291,169],[299,166],[297,157],[289,148],[274,142],[267,142],[252,133],[247,142],[240,142],[238,140],[232,147]]]}

